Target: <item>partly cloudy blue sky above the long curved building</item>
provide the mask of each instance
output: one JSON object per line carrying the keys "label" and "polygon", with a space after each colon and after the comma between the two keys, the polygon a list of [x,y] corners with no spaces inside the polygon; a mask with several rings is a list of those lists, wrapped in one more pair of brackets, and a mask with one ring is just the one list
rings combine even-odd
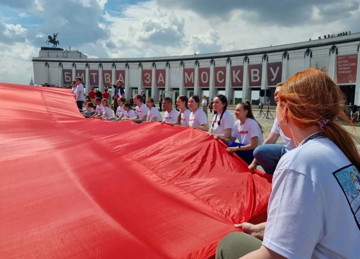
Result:
{"label": "partly cloudy blue sky above the long curved building", "polygon": [[360,0],[0,0],[0,80],[27,84],[48,35],[89,57],[241,50],[357,32]]}

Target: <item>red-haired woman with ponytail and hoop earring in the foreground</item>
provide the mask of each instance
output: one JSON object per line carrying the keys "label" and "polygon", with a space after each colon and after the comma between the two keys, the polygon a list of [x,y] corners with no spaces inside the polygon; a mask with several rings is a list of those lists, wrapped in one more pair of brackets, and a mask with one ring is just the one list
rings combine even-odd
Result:
{"label": "red-haired woman with ponytail and hoop earring in the foreground", "polygon": [[296,148],[276,167],[266,223],[235,224],[249,235],[227,235],[216,258],[359,258],[360,194],[348,189],[355,188],[360,156],[336,122],[348,121],[344,104],[340,88],[318,69],[282,86],[276,117]]}

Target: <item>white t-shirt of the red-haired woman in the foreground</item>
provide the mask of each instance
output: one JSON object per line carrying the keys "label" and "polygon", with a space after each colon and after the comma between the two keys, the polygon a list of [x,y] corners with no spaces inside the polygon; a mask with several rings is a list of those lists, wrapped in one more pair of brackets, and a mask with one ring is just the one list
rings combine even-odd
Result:
{"label": "white t-shirt of the red-haired woman in the foreground", "polygon": [[359,258],[358,169],[329,138],[287,152],[274,173],[262,245],[292,259]]}

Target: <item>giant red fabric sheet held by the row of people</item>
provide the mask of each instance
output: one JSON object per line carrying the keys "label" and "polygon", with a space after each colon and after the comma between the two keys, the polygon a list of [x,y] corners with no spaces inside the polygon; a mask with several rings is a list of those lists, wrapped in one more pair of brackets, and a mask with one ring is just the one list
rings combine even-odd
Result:
{"label": "giant red fabric sheet held by the row of people", "polygon": [[61,88],[0,101],[0,258],[209,258],[266,210],[271,176],[200,130],[84,119]]}

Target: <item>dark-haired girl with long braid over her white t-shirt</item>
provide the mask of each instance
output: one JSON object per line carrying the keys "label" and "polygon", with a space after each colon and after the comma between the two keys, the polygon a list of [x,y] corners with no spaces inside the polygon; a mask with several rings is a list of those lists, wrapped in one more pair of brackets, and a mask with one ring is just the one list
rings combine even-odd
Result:
{"label": "dark-haired girl with long braid over her white t-shirt", "polygon": [[226,111],[228,107],[228,99],[225,95],[218,94],[213,99],[213,109],[217,113],[212,118],[210,135],[215,139],[219,136],[229,139],[231,131],[234,128],[234,118],[230,112]]}

